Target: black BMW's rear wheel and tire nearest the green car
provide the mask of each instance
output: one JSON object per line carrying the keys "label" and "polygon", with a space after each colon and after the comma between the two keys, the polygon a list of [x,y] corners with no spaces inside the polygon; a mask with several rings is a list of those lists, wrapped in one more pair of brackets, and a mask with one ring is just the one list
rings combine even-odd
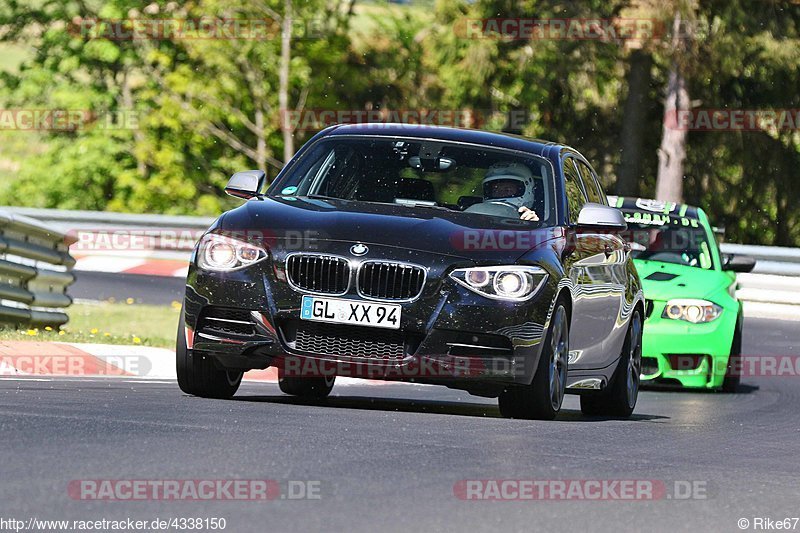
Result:
{"label": "black BMW's rear wheel and tire nearest the green car", "polygon": [[642,373],[642,317],[633,312],[619,363],[611,382],[602,392],[581,396],[581,412],[585,415],[628,418],[636,408]]}

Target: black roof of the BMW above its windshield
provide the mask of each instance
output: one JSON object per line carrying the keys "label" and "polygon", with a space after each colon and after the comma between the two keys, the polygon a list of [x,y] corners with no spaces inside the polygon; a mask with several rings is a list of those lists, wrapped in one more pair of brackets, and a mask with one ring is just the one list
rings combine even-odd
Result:
{"label": "black roof of the BMW above its windshield", "polygon": [[[496,133],[482,130],[428,126],[419,124],[348,124],[333,126],[327,135],[373,135],[385,137],[435,138],[445,141],[485,144],[497,148],[520,150],[536,155],[544,155],[552,147],[570,148],[566,145],[529,139],[509,133]],[[572,148],[570,148],[572,149]]]}

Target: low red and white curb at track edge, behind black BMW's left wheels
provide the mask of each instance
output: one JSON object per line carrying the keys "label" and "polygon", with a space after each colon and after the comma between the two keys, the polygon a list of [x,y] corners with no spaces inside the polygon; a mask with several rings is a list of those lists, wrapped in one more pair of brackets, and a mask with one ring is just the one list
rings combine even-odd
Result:
{"label": "low red and white curb at track edge, behind black BMW's left wheels", "polygon": [[[175,381],[175,352],[147,346],[66,342],[0,342],[0,379],[15,377],[131,378]],[[252,370],[245,381],[277,383],[275,368]],[[337,385],[386,382],[340,377]]]}

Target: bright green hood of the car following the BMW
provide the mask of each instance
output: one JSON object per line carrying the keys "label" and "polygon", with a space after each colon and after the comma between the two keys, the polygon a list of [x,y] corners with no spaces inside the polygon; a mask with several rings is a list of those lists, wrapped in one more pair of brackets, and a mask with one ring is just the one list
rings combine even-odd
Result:
{"label": "bright green hood of the car following the BMW", "polygon": [[728,287],[735,281],[729,273],[718,270],[644,259],[634,259],[633,263],[642,279],[644,297],[648,300],[710,298],[720,291],[727,294]]}

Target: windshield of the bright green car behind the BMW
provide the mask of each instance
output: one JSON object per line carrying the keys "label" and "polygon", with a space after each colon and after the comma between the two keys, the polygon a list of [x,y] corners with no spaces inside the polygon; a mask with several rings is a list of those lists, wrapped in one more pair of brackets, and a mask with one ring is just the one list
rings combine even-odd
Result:
{"label": "windshield of the bright green car behind the BMW", "polygon": [[624,215],[634,258],[714,268],[708,235],[697,219],[641,211]]}

